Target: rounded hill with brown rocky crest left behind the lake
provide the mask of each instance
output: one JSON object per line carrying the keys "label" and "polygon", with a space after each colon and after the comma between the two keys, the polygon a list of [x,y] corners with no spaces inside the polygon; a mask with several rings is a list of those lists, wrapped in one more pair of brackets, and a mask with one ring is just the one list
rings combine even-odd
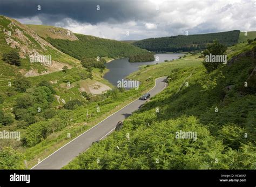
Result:
{"label": "rounded hill with brown rocky crest left behind the lake", "polygon": [[149,53],[144,49],[117,40],[77,33],[72,33],[71,37],[71,35],[68,36],[67,31],[62,28],[44,25],[28,26],[39,36],[49,41],[49,43],[55,46],[58,50],[79,60],[84,57],[122,58],[136,54]]}

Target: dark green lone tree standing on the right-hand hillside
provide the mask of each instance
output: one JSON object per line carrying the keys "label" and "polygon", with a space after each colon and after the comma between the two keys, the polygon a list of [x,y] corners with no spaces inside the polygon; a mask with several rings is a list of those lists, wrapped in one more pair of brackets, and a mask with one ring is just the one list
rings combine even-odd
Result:
{"label": "dark green lone tree standing on the right-hand hillside", "polygon": [[220,44],[219,41],[217,41],[217,40],[214,40],[213,44],[210,44],[207,46],[207,49],[203,52],[204,57],[205,57],[205,59],[203,61],[203,65],[205,66],[207,72],[217,70],[217,68],[221,65],[221,63],[207,61],[206,57],[210,56],[210,54],[212,56],[224,55],[226,50],[227,50],[227,47],[224,46],[223,44]]}

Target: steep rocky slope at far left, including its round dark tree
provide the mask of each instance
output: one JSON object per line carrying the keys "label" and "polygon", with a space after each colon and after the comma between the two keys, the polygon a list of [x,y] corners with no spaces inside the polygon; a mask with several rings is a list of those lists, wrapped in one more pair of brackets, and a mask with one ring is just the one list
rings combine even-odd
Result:
{"label": "steep rocky slope at far left, including its round dark tree", "polygon": [[79,60],[55,49],[14,19],[0,16],[0,27],[0,80],[13,79],[17,74],[25,75],[28,71],[32,71],[32,74],[57,71],[41,63],[30,63],[29,55],[35,52],[51,55],[51,59],[56,63],[63,63],[69,67],[79,63]]}

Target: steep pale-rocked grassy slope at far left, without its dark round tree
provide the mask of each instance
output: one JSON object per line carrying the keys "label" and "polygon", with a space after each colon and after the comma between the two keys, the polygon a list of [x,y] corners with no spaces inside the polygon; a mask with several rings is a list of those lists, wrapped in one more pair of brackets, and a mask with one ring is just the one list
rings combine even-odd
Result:
{"label": "steep pale-rocked grassy slope at far left, without its dark round tree", "polygon": [[[47,74],[79,65],[79,60],[57,50],[48,41],[38,36],[29,27],[5,16],[0,16],[0,74],[2,78],[22,73],[26,77]],[[3,60],[3,53],[17,50],[21,57],[21,66],[10,66]],[[51,56],[51,64],[31,63],[30,56]]]}

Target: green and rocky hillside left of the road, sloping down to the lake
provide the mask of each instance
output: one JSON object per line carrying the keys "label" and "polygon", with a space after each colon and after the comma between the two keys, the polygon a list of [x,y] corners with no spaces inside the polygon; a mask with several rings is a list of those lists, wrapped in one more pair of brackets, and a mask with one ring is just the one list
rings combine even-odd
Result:
{"label": "green and rocky hillside left of the road, sloping down to the lake", "polygon": [[[39,37],[33,30],[42,36]],[[32,167],[38,158],[42,160],[153,85],[153,81],[147,82],[138,91],[113,89],[103,79],[106,69],[92,67],[89,71],[78,59],[59,51],[44,39],[61,38],[71,43],[80,41],[66,29],[44,25],[26,26],[0,16],[0,36],[0,131],[21,132],[21,141],[0,141],[0,169]],[[104,54],[107,51],[103,57],[106,61],[113,59],[107,57],[110,52],[116,54],[114,57],[119,57],[119,53],[121,57],[133,52],[137,54],[138,51],[147,52],[114,40],[90,36],[84,39],[90,42],[79,44],[91,44],[92,53],[96,52],[95,49]],[[68,45],[65,47],[70,50]],[[86,47],[80,49],[82,55]],[[10,65],[2,60],[3,54],[11,50],[16,50],[21,56],[21,66]],[[33,53],[51,55],[53,66],[30,63],[29,56]],[[62,71],[64,66],[68,68]],[[100,112],[96,112],[96,107],[100,107]],[[86,116],[87,110],[89,116]],[[72,136],[67,137],[67,133]]]}

